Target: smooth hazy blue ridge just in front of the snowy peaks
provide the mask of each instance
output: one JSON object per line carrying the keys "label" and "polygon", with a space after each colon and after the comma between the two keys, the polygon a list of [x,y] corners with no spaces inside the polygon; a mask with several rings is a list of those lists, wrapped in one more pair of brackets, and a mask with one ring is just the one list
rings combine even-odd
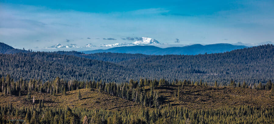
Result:
{"label": "smooth hazy blue ridge just in front of the snowy peaks", "polygon": [[[137,41],[136,41],[137,42]],[[211,45],[188,45],[184,47],[168,47],[159,48],[153,45],[136,45],[136,46],[121,46],[110,49],[97,49],[92,51],[84,51],[86,54],[100,53],[100,52],[114,52],[114,53],[140,53],[146,55],[197,55],[205,53],[220,53],[232,51],[234,49],[246,48],[244,45],[231,45],[226,43],[211,44]]]}

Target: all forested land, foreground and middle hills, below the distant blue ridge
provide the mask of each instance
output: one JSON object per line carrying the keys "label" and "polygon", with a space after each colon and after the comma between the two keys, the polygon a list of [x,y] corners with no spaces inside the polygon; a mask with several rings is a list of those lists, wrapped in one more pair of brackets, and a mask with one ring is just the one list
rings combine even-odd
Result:
{"label": "all forested land, foreground and middle hills, below the distant blue ridge", "polygon": [[0,123],[274,123],[273,45],[204,55],[0,47]]}

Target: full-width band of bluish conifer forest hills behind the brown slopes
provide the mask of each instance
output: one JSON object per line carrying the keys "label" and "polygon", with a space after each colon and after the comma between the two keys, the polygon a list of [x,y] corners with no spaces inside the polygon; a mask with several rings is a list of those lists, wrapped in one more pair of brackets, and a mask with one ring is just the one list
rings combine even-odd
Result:
{"label": "full-width band of bluish conifer forest hills behind the brown slopes", "polygon": [[121,83],[147,77],[168,81],[202,79],[211,85],[215,81],[228,85],[233,79],[254,86],[273,80],[273,55],[273,45],[203,55],[29,52],[1,54],[0,73],[10,74],[16,80],[20,76],[42,80],[59,76],[64,79]]}

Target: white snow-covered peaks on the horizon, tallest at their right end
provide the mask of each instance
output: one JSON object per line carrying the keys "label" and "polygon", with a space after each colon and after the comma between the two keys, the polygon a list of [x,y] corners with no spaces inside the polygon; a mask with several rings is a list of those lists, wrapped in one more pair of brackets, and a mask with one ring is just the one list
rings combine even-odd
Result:
{"label": "white snow-covered peaks on the horizon, tallest at their right end", "polygon": [[48,48],[90,48],[90,47],[113,47],[113,46],[133,46],[133,45],[160,45],[160,42],[158,42],[155,39],[149,38],[149,37],[142,37],[141,39],[133,42],[133,43],[115,43],[115,44],[101,44],[101,45],[93,45],[93,44],[87,44],[84,46],[76,46],[76,45],[61,45],[56,44]]}

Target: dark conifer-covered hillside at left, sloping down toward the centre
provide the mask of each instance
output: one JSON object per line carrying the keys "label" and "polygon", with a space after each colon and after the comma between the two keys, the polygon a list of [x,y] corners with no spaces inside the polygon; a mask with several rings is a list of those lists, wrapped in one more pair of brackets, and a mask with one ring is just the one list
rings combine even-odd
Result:
{"label": "dark conifer-covered hillside at left, sloping down toward the centre", "polygon": [[2,74],[10,74],[16,80],[50,80],[56,76],[79,80],[125,79],[121,75],[125,69],[120,65],[48,52],[1,54],[0,68]]}

